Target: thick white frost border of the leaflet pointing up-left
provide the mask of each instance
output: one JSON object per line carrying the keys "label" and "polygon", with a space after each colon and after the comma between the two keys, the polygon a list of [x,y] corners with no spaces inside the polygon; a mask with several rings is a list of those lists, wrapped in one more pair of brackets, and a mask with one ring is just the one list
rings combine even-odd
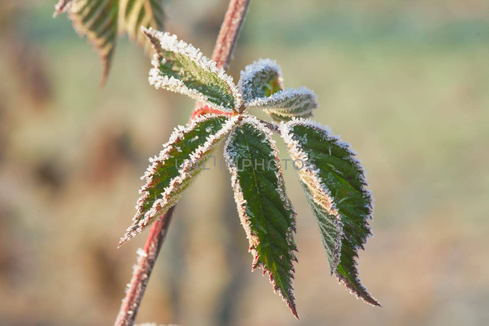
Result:
{"label": "thick white frost border of the leaflet pointing up-left", "polygon": [[[219,68],[215,61],[205,57],[199,49],[195,48],[192,44],[185,43],[184,41],[178,41],[177,35],[172,35],[168,32],[160,32],[153,28],[141,27],[141,31],[148,37],[149,42],[152,44],[156,53],[153,56],[152,65],[154,66],[150,69],[148,81],[150,85],[153,85],[156,89],[167,87],[170,91],[185,94],[191,98],[208,105],[211,108],[219,109],[223,112],[233,112],[238,111],[243,104],[242,95],[238,87],[234,84],[233,78],[227,75],[224,69]],[[152,37],[158,39],[159,44],[152,42]],[[172,77],[161,76],[159,74],[159,55],[157,54],[158,49],[164,49],[166,51],[172,51],[176,53],[183,54],[187,56],[191,61],[199,65],[202,69],[212,72],[218,75],[218,77],[224,81],[234,97],[234,108],[226,108],[222,105],[217,105],[215,103],[209,102],[208,97],[200,93],[197,89],[188,88],[185,84]]]}

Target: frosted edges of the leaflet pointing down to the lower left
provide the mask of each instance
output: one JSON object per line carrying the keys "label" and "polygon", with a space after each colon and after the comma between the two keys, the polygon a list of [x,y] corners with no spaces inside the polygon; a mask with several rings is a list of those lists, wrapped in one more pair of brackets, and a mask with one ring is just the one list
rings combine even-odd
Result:
{"label": "frosted edges of the leaflet pointing down to the lower left", "polygon": [[200,145],[194,152],[192,152],[190,154],[190,159],[186,160],[182,168],[178,170],[179,175],[170,180],[170,185],[165,188],[163,193],[161,193],[163,198],[155,200],[152,208],[144,214],[144,218],[138,220],[138,217],[142,214],[144,201],[149,196],[149,193],[146,190],[150,187],[151,181],[153,179],[152,174],[156,172],[158,163],[164,164],[164,162],[170,158],[169,152],[173,149],[173,144],[175,144],[175,142],[177,142],[179,139],[182,139],[185,133],[193,130],[198,123],[214,117],[222,117],[222,115],[205,114],[190,121],[187,124],[186,128],[183,126],[178,126],[178,129],[175,128],[175,131],[170,135],[169,141],[163,144],[163,150],[159,153],[159,155],[149,158],[151,165],[148,167],[144,175],[141,176],[141,180],[146,179],[146,184],[143,185],[139,190],[139,194],[142,194],[142,196],[139,197],[139,199],[137,200],[137,204],[135,207],[136,214],[133,217],[133,224],[126,230],[127,232],[124,237],[120,239],[119,246],[135,237],[149,224],[151,224],[151,222],[154,221],[156,217],[163,215],[171,206],[177,203],[178,199],[180,199],[181,196],[181,194],[178,193],[178,190],[182,187],[183,182],[186,181],[188,178],[194,176],[194,174],[191,173],[192,168],[196,166],[196,163],[199,162],[203,155],[211,151],[217,145],[219,140],[221,140],[222,137],[232,129],[239,118],[239,116],[228,118],[218,132],[206,137],[207,141],[203,145]]}

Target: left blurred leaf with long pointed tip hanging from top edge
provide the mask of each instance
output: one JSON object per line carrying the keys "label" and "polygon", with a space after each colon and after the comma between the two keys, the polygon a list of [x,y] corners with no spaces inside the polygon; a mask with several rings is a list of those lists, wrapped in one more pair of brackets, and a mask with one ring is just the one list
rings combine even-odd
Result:
{"label": "left blurred leaf with long pointed tip hanging from top edge", "polygon": [[[63,3],[65,2],[65,3]],[[102,82],[107,80],[111,68],[112,56],[117,43],[117,0],[71,0],[69,3],[61,0],[57,12],[68,11],[68,17],[80,36],[87,35],[89,43],[93,44],[102,61],[104,68]]]}

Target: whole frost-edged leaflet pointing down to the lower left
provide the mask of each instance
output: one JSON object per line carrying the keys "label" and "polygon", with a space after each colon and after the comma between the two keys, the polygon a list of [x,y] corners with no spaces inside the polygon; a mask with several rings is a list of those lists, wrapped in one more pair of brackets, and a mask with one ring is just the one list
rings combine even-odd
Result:
{"label": "whole frost-edged leaflet pointing down to the lower left", "polygon": [[150,158],[151,165],[141,177],[146,179],[146,184],[139,191],[142,196],[137,200],[133,224],[119,245],[135,237],[177,203],[237,119],[238,116],[202,115],[186,128],[175,129],[159,156]]}

